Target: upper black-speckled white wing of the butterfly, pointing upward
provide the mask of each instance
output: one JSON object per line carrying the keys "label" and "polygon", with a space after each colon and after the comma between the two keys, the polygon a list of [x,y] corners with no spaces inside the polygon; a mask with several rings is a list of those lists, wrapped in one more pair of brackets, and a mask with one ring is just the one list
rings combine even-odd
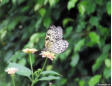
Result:
{"label": "upper black-speckled white wing of the butterfly, pointing upward", "polygon": [[45,48],[50,47],[56,41],[63,38],[63,30],[60,26],[56,27],[54,25],[50,26],[49,30],[46,33],[45,38]]}

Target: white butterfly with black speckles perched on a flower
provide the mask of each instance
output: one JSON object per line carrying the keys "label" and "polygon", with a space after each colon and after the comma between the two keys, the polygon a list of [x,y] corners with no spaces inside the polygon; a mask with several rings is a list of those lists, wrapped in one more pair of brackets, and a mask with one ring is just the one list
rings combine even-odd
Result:
{"label": "white butterfly with black speckles perched on a flower", "polygon": [[63,29],[60,26],[49,27],[45,37],[45,49],[55,54],[60,54],[68,48],[69,43],[63,39]]}

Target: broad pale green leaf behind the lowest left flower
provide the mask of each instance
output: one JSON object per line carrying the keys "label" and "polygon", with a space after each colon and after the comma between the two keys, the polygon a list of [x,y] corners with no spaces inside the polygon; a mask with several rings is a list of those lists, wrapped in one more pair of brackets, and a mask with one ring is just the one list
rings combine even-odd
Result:
{"label": "broad pale green leaf behind the lowest left flower", "polygon": [[23,65],[17,64],[17,63],[9,63],[8,68],[10,67],[15,67],[18,69],[16,74],[21,75],[21,76],[27,76],[29,77],[31,75],[31,70]]}

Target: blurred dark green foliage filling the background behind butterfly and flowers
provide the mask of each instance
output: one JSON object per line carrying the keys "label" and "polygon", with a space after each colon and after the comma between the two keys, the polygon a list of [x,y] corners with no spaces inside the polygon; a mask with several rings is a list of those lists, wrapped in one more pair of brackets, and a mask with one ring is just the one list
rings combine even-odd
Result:
{"label": "blurred dark green foliage filling the background behind butterfly and flowers", "polygon": [[[62,26],[69,48],[48,61],[46,70],[62,75],[60,80],[35,86],[97,86],[111,83],[110,0],[0,0],[0,86],[12,86],[4,72],[9,62],[29,67],[23,48],[44,48],[52,24]],[[45,59],[35,54],[34,69]],[[30,86],[16,75],[16,86]],[[52,83],[52,85],[49,85]]]}

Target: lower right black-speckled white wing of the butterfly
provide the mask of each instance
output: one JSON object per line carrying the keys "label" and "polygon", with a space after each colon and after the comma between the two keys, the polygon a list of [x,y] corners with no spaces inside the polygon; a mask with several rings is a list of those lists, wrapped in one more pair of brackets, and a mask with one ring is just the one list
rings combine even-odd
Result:
{"label": "lower right black-speckled white wing of the butterfly", "polygon": [[69,43],[66,40],[59,40],[55,42],[48,48],[48,51],[51,51],[55,54],[64,52],[68,48]]}

